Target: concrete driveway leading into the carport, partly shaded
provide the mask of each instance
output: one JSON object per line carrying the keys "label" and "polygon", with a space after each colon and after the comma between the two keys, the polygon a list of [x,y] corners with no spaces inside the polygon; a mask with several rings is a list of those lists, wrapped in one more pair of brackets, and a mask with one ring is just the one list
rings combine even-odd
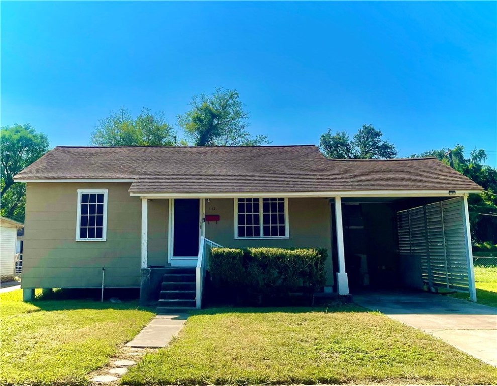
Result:
{"label": "concrete driveway leading into the carport, partly shaded", "polygon": [[422,292],[373,292],[354,302],[497,366],[497,308]]}

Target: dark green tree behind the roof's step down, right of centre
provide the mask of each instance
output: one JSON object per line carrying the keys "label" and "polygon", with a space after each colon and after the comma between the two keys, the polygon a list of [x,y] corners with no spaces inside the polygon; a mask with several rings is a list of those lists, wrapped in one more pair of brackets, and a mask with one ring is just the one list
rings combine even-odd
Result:
{"label": "dark green tree behind the roof's step down, right of centre", "polygon": [[382,159],[397,155],[395,146],[382,139],[383,133],[373,125],[362,125],[350,139],[344,131],[332,133],[331,129],[321,135],[319,147],[328,158]]}

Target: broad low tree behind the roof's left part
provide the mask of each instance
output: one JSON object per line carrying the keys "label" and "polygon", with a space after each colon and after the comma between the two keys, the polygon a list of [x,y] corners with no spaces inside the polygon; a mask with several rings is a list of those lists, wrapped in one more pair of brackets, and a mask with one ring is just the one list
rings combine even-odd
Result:
{"label": "broad low tree behind the roof's left part", "polygon": [[90,142],[97,146],[171,146],[177,144],[177,136],[165,121],[164,112],[153,114],[143,108],[133,118],[128,109],[121,107],[98,121]]}

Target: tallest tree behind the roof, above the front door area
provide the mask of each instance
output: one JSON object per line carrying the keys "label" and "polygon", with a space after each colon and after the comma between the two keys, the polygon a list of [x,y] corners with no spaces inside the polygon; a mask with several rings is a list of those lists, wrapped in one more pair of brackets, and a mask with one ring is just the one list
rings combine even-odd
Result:
{"label": "tallest tree behind the roof, above the front door area", "polygon": [[178,124],[195,146],[258,146],[267,136],[253,137],[247,130],[249,114],[236,90],[216,88],[212,95],[193,96],[191,109],[178,116]]}

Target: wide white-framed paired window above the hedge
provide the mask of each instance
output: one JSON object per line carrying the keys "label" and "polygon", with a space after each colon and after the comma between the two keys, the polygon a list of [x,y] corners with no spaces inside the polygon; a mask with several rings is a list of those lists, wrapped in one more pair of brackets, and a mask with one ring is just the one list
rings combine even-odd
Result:
{"label": "wide white-framed paired window above the hedge", "polygon": [[235,199],[235,238],[288,238],[286,198]]}

